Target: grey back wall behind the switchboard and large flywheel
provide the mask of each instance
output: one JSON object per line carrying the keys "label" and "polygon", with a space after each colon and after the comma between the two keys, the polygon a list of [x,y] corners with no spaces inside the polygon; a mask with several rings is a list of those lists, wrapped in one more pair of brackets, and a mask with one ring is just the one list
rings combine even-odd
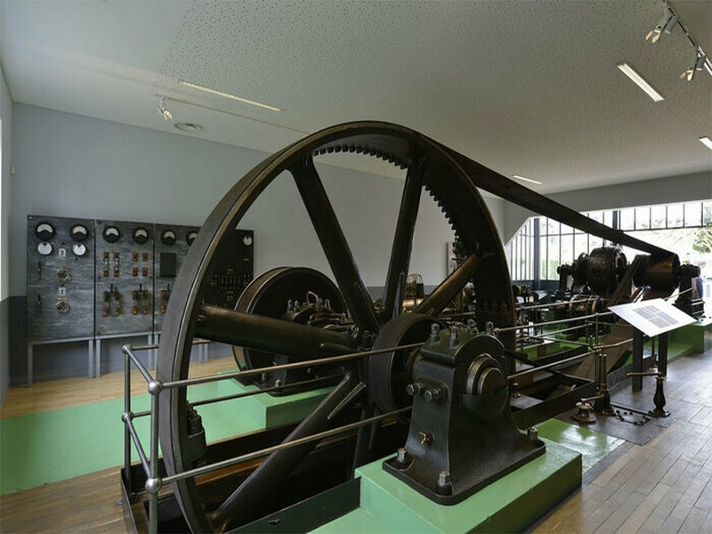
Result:
{"label": "grey back wall behind the switchboard and large flywheel", "polygon": [[[223,194],[267,157],[255,150],[165,134],[50,109],[13,108],[10,294],[20,335],[13,342],[12,381],[25,379],[26,218],[52,214],[157,223],[201,224]],[[367,286],[384,284],[403,181],[321,164],[320,174]],[[503,203],[486,199],[496,223]],[[287,175],[279,176],[241,226],[255,230],[255,272],[307,265],[328,272],[307,214]],[[498,224],[498,226],[501,226]],[[418,217],[410,270],[425,284],[445,275],[449,225],[431,198]],[[109,347],[109,352],[120,351]],[[56,352],[61,358],[51,358]],[[110,356],[116,357],[117,355]],[[61,361],[64,370],[47,367]],[[109,368],[112,368],[109,365]],[[38,348],[36,377],[81,376],[84,349]],[[56,371],[56,372],[55,372]]]}

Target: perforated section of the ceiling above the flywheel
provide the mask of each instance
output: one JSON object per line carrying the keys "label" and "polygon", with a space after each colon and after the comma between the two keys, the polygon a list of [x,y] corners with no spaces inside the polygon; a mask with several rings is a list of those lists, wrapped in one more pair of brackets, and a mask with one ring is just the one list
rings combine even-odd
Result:
{"label": "perforated section of the ceiling above the flywheel", "polygon": [[[157,92],[301,131],[354,118],[403,122],[500,172],[524,169],[545,182],[612,175],[664,163],[644,149],[657,134],[630,120],[652,102],[618,62],[630,61],[662,93],[684,91],[687,110],[656,109],[670,133],[691,122],[704,129],[708,85],[677,80],[682,36],[666,36],[664,46],[643,39],[659,9],[644,1],[196,2]],[[602,147],[611,150],[603,160]]]}

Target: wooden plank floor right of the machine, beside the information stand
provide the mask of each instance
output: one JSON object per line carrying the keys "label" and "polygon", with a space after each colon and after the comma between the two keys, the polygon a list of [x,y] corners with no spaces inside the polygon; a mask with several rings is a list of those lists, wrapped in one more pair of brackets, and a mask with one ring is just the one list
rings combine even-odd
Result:
{"label": "wooden plank floor right of the machine, beside the information stand", "polygon": [[674,422],[585,480],[532,532],[712,532],[712,350],[672,362],[667,376]]}

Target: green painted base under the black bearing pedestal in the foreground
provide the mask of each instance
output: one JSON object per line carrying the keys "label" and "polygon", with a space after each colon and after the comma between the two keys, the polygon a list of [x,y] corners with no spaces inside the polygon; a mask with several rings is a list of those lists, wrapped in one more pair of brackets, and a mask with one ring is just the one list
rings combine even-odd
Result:
{"label": "green painted base under the black bearing pedestal in the foreground", "polygon": [[522,531],[581,485],[581,455],[553,441],[546,441],[543,456],[454,506],[425,498],[382,464],[357,469],[360,508],[314,532]]}

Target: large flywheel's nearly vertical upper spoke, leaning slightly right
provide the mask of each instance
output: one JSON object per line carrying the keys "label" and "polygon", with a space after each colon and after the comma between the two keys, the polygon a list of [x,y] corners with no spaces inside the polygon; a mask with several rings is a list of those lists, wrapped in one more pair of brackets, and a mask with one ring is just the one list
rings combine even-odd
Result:
{"label": "large flywheel's nearly vertical upper spoke, leaning slightly right", "polygon": [[[393,236],[391,263],[384,287],[384,316],[392,317],[394,311],[401,309],[403,295],[399,289],[408,275],[410,251],[413,247],[413,234],[416,231],[417,209],[420,205],[420,193],[423,190],[423,169],[425,162],[418,161],[409,167],[406,183],[401,196],[401,208],[398,211],[398,223]],[[400,302],[396,302],[398,299]]]}

